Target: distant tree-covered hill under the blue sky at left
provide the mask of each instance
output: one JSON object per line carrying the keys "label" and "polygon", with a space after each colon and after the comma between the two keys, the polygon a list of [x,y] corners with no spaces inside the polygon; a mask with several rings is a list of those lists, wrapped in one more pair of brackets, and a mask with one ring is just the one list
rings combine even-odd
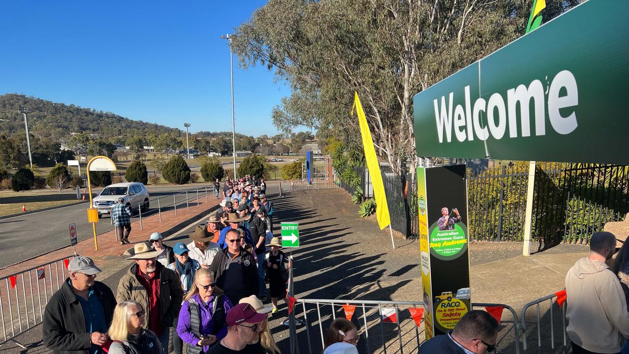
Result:
{"label": "distant tree-covered hill under the blue sky at left", "polygon": [[33,111],[29,115],[28,128],[31,134],[41,138],[67,140],[70,133],[89,133],[122,143],[126,137],[133,135],[182,134],[182,130],[177,128],[131,120],[111,112],[9,93],[0,96],[0,119],[4,120],[0,122],[0,135],[24,131],[23,116],[18,113],[20,107]]}

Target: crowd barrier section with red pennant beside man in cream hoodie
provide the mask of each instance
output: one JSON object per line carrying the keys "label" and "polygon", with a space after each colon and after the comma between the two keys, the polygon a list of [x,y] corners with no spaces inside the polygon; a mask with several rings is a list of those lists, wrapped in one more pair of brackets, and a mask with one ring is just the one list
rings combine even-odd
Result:
{"label": "crowd barrier section with red pennant beside man in cream hoodie", "polygon": [[[528,353],[528,340],[530,336],[532,336],[535,332],[532,328],[527,328],[526,323],[526,310],[535,305],[536,309],[536,323],[537,323],[537,351],[538,353],[555,353],[555,337],[562,338],[562,342],[560,342],[561,347],[559,348],[560,352],[568,353],[568,336],[565,331],[566,322],[565,322],[565,308],[567,307],[567,302],[564,302],[564,305],[559,308],[554,299],[557,297],[555,294],[546,295],[537,300],[533,300],[528,302],[528,304],[522,307],[521,313],[521,321],[522,321],[522,349],[524,354]],[[545,311],[540,310],[540,304],[543,306],[547,306]],[[556,304],[556,305],[555,305]],[[559,312],[559,313],[557,313]],[[548,316],[548,321],[542,321],[542,313],[545,316]],[[557,326],[555,326],[555,317],[561,317],[561,323],[559,326],[559,330]],[[557,332],[557,333],[555,333]],[[550,338],[548,338],[550,336]],[[545,337],[545,338],[542,338]],[[548,343],[550,342],[550,343]],[[550,348],[548,348],[548,344],[550,344]]]}

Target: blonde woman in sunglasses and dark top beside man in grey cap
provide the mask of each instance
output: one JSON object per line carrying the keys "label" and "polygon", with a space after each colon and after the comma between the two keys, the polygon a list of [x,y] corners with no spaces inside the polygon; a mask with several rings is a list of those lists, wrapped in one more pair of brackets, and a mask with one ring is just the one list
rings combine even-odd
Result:
{"label": "blonde woman in sunglasses and dark top beside man in grey cap", "polygon": [[113,341],[109,354],[162,354],[159,338],[148,329],[146,312],[138,302],[118,302],[107,334]]}

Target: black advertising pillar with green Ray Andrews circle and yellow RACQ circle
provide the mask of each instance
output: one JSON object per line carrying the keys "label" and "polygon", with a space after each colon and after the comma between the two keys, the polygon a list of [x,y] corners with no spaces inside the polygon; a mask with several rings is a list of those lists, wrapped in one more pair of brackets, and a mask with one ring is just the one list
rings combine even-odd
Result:
{"label": "black advertising pillar with green Ray Andrews circle and yellow RACQ circle", "polygon": [[426,340],[471,309],[465,165],[417,169]]}

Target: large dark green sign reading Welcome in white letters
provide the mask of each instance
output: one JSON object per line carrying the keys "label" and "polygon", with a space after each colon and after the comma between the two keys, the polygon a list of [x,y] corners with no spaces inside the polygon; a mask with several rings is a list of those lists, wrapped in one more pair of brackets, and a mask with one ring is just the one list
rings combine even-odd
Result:
{"label": "large dark green sign reading Welcome in white letters", "polygon": [[416,94],[417,154],[629,164],[627,14],[586,1]]}

